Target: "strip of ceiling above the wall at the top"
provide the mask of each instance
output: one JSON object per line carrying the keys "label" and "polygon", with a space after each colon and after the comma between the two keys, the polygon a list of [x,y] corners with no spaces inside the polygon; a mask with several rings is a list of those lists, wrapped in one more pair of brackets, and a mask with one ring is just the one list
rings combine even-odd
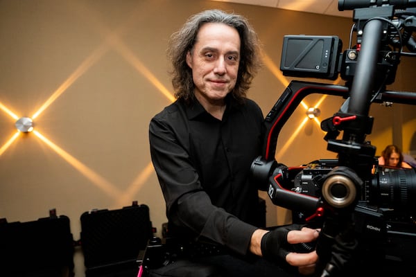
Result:
{"label": "strip of ceiling above the wall at the top", "polygon": [[313,12],[322,15],[352,18],[352,10],[340,12],[338,0],[214,0],[220,2],[243,3],[249,5],[296,10],[299,12]]}

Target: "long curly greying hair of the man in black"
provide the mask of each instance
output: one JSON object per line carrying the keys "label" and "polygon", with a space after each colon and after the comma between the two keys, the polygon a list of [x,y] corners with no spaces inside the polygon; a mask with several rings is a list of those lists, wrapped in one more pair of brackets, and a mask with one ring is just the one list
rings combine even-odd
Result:
{"label": "long curly greying hair of the man in black", "polygon": [[196,43],[200,27],[206,23],[226,24],[239,32],[241,60],[236,85],[231,94],[241,102],[246,97],[252,79],[261,66],[260,42],[257,33],[245,17],[222,10],[205,10],[189,17],[184,26],[171,36],[167,54],[173,66],[170,73],[173,89],[175,89],[175,98],[182,98],[187,102],[194,98],[192,71],[187,64],[186,57],[188,51],[191,51]]}

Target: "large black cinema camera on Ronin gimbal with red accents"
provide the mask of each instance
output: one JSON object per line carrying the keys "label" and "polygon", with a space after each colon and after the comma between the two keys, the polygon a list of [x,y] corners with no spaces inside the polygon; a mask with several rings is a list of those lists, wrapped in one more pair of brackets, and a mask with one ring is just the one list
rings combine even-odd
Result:
{"label": "large black cinema camera on Ronin gimbal with red accents", "polygon": [[[321,229],[317,243],[304,246],[316,249],[319,276],[397,276],[416,269],[416,172],[378,166],[376,148],[365,140],[374,121],[372,103],[416,105],[415,92],[386,90],[401,56],[416,55],[415,7],[416,1],[405,0],[338,1],[338,10],[354,10],[343,53],[337,36],[284,37],[284,75],[345,80],[345,85],[293,80],[265,118],[262,155],[251,168],[272,203],[293,211],[293,222]],[[311,93],[345,99],[321,123],[327,150],[338,158],[289,168],[275,160],[277,137]]]}

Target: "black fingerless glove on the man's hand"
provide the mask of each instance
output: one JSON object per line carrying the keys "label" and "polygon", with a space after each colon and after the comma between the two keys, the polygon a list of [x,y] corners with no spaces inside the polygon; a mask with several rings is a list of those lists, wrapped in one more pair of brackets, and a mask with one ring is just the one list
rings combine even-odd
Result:
{"label": "black fingerless glove on the man's hand", "polygon": [[288,243],[288,233],[291,230],[300,230],[304,225],[291,224],[281,226],[263,235],[261,238],[261,253],[266,260],[276,261],[277,259],[286,260],[289,252],[309,252],[313,249],[304,249],[297,244]]}

